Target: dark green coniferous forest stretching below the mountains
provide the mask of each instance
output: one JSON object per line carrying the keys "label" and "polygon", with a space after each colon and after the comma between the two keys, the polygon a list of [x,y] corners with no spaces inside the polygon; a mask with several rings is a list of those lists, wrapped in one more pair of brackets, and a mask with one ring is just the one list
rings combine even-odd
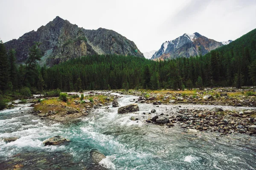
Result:
{"label": "dark green coniferous forest stretching below the mountains", "polygon": [[103,89],[184,89],[256,85],[256,29],[202,56],[152,61],[133,56],[93,55],[40,67],[40,42],[30,48],[25,64],[15,62],[15,49],[0,43],[1,94]]}

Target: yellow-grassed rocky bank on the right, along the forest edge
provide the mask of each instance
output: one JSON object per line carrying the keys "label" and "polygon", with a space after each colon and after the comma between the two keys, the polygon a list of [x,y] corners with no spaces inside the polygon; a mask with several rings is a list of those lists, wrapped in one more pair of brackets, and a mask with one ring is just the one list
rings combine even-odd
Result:
{"label": "yellow-grassed rocky bank on the right, along the forest edge", "polygon": [[158,102],[163,105],[198,104],[198,105],[229,105],[256,107],[256,88],[205,88],[184,91],[173,90],[129,90],[116,93],[140,96],[138,102]]}

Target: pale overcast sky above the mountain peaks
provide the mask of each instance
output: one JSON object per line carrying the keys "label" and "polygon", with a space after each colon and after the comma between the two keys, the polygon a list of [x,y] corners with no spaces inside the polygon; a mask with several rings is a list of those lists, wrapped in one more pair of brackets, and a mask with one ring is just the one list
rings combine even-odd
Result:
{"label": "pale overcast sky above the mountain peaks", "polygon": [[112,29],[142,52],[184,33],[226,41],[256,28],[256,0],[0,0],[0,10],[3,42],[59,16],[86,29]]}

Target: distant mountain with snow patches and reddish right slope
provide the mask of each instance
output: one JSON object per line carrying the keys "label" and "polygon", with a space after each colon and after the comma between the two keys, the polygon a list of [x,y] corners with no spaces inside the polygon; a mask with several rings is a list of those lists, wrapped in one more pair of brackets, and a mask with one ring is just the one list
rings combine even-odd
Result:
{"label": "distant mountain with snow patches and reddish right slope", "polygon": [[[228,44],[231,40],[225,42]],[[190,57],[207,54],[224,45],[195,32],[194,34],[183,34],[175,40],[163,42],[161,48],[154,53],[151,59],[173,59],[177,57]],[[200,48],[199,48],[200,47]]]}

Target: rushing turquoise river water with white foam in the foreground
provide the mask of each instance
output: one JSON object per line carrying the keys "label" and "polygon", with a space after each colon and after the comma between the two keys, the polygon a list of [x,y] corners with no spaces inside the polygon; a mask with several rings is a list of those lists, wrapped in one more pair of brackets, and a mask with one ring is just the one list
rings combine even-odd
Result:
{"label": "rushing turquoise river water with white foam in the foreground", "polygon": [[[118,99],[128,105],[136,96]],[[98,108],[86,118],[68,124],[51,122],[30,114],[29,104],[0,111],[0,138],[18,137],[14,142],[0,141],[0,169],[23,164],[24,169],[91,169],[90,150],[106,158],[100,164],[113,170],[254,170],[256,137],[244,134],[220,136],[219,133],[167,128],[131,121],[131,116],[148,118],[152,108],[170,113],[182,108],[211,108],[200,105],[138,104],[137,113],[118,114],[118,108]],[[222,106],[224,109],[236,109]],[[242,109],[242,108],[240,108]],[[145,115],[143,114],[145,112]],[[154,115],[151,115],[154,116]],[[45,146],[42,142],[61,135],[71,142]]]}

